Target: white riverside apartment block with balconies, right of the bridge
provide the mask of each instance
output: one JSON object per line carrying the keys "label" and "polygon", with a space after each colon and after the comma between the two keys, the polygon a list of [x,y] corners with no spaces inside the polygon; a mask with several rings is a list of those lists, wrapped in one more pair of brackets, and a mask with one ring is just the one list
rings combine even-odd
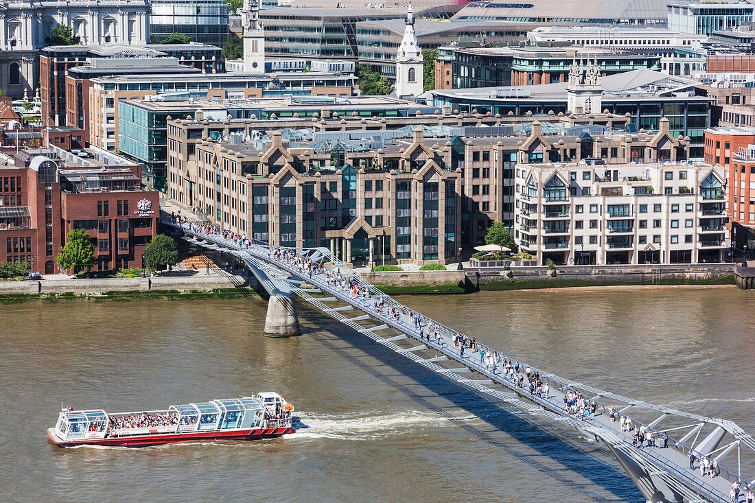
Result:
{"label": "white riverside apartment block with balconies, right of the bridge", "polygon": [[541,265],[720,262],[725,186],[692,162],[520,164],[514,236]]}

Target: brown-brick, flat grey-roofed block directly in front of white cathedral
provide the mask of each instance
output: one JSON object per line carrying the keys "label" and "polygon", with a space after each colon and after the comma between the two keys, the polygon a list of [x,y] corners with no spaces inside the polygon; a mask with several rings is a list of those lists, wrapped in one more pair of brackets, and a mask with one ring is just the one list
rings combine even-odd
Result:
{"label": "brown-brick, flat grey-roofed block directly in front of white cathedral", "polygon": [[[61,45],[42,49],[39,66],[42,122],[45,125],[84,125],[84,115],[75,122],[66,122],[69,100],[79,101],[79,110],[88,106],[86,88],[91,84],[77,82],[73,90],[66,79],[88,80],[97,76],[127,73],[224,73],[225,63],[220,48],[204,44],[160,45]],[[173,58],[173,59],[171,59]],[[86,69],[73,69],[85,66]],[[192,70],[196,69],[196,70]],[[79,85],[81,84],[81,86]],[[72,94],[73,93],[73,94]],[[72,117],[72,118],[73,118]]]}

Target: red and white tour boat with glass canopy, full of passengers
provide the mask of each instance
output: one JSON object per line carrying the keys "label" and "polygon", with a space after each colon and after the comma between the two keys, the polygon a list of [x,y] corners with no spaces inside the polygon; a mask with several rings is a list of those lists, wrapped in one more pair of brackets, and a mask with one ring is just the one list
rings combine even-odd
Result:
{"label": "red and white tour boat with glass canopy, full of passengers", "polygon": [[59,447],[146,447],[196,440],[259,440],[294,433],[294,406],[278,393],[119,412],[63,409],[47,435]]}

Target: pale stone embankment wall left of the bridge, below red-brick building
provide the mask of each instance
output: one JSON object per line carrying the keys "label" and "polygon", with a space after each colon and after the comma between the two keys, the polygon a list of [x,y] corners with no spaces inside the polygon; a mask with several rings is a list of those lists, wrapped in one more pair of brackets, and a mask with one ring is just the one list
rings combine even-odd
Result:
{"label": "pale stone embankment wall left of the bridge, below red-brick building", "polygon": [[[240,283],[242,276],[236,276]],[[233,289],[227,276],[155,276],[152,278],[0,281],[0,295],[105,295],[106,292],[207,292]]]}

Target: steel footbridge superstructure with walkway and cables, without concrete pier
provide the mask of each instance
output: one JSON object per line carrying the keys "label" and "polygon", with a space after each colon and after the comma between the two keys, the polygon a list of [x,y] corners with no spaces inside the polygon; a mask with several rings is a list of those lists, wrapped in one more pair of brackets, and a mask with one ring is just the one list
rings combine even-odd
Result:
{"label": "steel footbridge superstructure with walkway and cables, without concrete pier", "polygon": [[[335,258],[327,248],[295,250],[298,256],[308,256],[322,265],[322,273],[318,271],[312,274],[306,273],[298,267],[296,261],[276,258],[272,248],[267,243],[252,241],[251,245],[240,245],[237,242],[223,239],[222,236],[205,234],[201,229],[193,228],[191,225],[178,225],[171,221],[168,221],[168,225],[181,230],[190,239],[202,240],[217,248],[227,248],[239,256],[245,254],[249,259],[254,259],[260,264],[264,263],[279,270],[281,277],[284,281],[289,282],[291,292],[295,295],[399,355],[445,375],[445,377],[453,379],[478,393],[495,397],[496,400],[516,406],[524,414],[541,415],[559,424],[574,427],[585,434],[591,432],[596,438],[606,443],[617,455],[617,458],[627,470],[627,474],[643,492],[643,495],[652,496],[649,501],[695,501],[700,498],[707,501],[720,501],[728,498],[729,487],[732,482],[738,481],[742,487],[749,483],[749,480],[744,479],[741,475],[743,468],[741,446],[746,446],[747,454],[752,455],[755,452],[755,440],[732,421],[670,409],[643,400],[633,400],[617,393],[599,390],[587,384],[559,377],[523,363],[519,372],[516,372],[515,381],[514,375],[504,375],[501,369],[497,369],[496,366],[491,368],[491,366],[485,365],[482,358],[478,359],[470,352],[461,353],[461,350],[451,344],[451,339],[456,333],[451,327],[420,315],[421,323],[432,322],[438,328],[439,335],[433,340],[428,339],[429,335],[422,337],[418,326],[414,326],[412,320],[405,313],[405,308],[399,302],[388,295],[384,295],[373,285],[369,285],[368,282],[360,278],[356,271],[351,270],[346,264]],[[247,261],[245,260],[245,262]],[[366,299],[355,298],[350,291],[329,284],[325,281],[325,270],[340,274],[341,277],[356,279],[362,292],[365,290],[368,292],[368,297]],[[313,294],[325,295],[325,297]],[[374,309],[372,301],[378,298],[382,300],[386,308],[400,311],[401,314],[397,316],[398,319]],[[328,304],[325,304],[326,302],[341,302],[344,306],[331,307],[332,304],[328,306]],[[359,310],[364,314],[349,318],[342,314],[342,312],[348,310]],[[368,321],[373,321],[377,325],[370,327],[358,323]],[[383,336],[380,332],[384,330],[398,332],[399,335]],[[409,343],[418,341],[421,345],[408,345],[403,342],[407,339],[412,340],[407,341]],[[399,342],[404,344],[405,347],[396,344]],[[479,350],[482,350],[483,354],[489,352],[512,362],[516,361],[512,356],[494,350],[485,344],[478,344],[478,352]],[[434,356],[423,356],[422,353],[426,352],[432,352]],[[462,366],[454,366],[455,363],[461,363]],[[524,369],[528,371],[526,375]],[[478,373],[479,378],[470,379],[460,375],[460,373],[468,374],[468,372]],[[550,383],[550,392],[546,396],[540,393],[531,393],[529,375],[534,373],[537,373],[544,382]],[[525,382],[524,387],[521,385],[522,378]],[[503,387],[506,391],[495,390],[492,386]],[[586,417],[584,415],[575,417],[572,410],[567,410],[564,405],[565,393],[574,393],[575,395],[580,393],[580,396],[584,397],[588,403],[596,406],[596,413]],[[625,427],[624,421],[621,421],[620,427],[620,421],[609,420],[609,412],[611,418],[630,420],[631,427]],[[631,412],[631,417],[627,412]],[[658,412],[661,413],[660,417],[658,417]],[[690,419],[695,423],[689,424]],[[651,435],[652,439],[652,434],[656,431],[655,427],[661,421],[667,425],[663,429],[666,433],[689,431],[678,440],[669,437],[669,449],[659,447],[657,439],[652,440],[653,446],[637,446],[635,439],[633,439],[636,431],[642,429]],[[704,440],[698,444],[698,438],[701,435],[704,436]],[[690,443],[689,440],[692,437],[694,437],[694,440]],[[734,440],[731,440],[732,437]],[[718,446],[725,438],[729,438],[729,441],[726,442],[725,446],[719,448]],[[734,446],[738,448],[736,466],[723,467],[719,464],[721,477],[709,479],[701,477],[697,470],[689,469],[687,452],[692,450],[701,455],[719,453],[716,459],[723,459]]]}

